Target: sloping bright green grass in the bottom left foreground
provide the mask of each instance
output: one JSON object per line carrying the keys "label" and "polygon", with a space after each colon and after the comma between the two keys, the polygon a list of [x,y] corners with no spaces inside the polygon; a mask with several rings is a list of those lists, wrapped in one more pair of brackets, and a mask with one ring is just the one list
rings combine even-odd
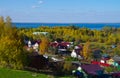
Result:
{"label": "sloping bright green grass in the bottom left foreground", "polygon": [[70,77],[54,77],[51,75],[38,74],[29,71],[0,68],[0,78],[70,78]]}

